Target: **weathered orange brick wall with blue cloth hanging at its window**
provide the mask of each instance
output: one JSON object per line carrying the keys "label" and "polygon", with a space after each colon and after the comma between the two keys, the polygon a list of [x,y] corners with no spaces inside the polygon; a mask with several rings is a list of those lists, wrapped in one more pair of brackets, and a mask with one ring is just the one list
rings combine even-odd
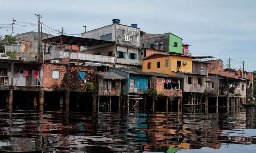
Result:
{"label": "weathered orange brick wall with blue cloth hanging at its window", "polygon": [[[52,71],[59,70],[59,79],[55,80],[52,78]],[[87,82],[92,84],[96,83],[96,68],[88,66],[78,66],[68,64],[44,64],[44,76],[43,76],[43,87],[45,88],[59,88],[65,89],[68,86],[73,89],[83,89],[85,83],[83,80],[79,80],[79,71],[84,71],[86,74]],[[68,76],[69,72],[69,76]]]}

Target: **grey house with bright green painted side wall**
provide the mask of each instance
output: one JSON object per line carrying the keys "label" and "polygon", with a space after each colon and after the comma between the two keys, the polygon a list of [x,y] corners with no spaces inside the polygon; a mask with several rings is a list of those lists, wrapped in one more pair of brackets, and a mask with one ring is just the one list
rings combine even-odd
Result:
{"label": "grey house with bright green painted side wall", "polygon": [[[182,54],[182,38],[168,32],[164,34],[143,34],[140,47]],[[141,53],[142,55],[142,53]]]}

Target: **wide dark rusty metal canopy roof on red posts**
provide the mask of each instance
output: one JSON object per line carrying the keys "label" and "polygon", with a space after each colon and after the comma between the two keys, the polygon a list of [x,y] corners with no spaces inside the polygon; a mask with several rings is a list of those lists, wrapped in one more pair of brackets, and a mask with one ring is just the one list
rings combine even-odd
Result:
{"label": "wide dark rusty metal canopy roof on red posts", "polygon": [[52,38],[43,39],[42,41],[52,45],[60,44],[60,42],[62,41],[62,45],[72,45],[81,47],[91,47],[104,44],[114,45],[116,43],[113,41],[97,40],[91,38],[82,38],[66,35],[60,35]]}

